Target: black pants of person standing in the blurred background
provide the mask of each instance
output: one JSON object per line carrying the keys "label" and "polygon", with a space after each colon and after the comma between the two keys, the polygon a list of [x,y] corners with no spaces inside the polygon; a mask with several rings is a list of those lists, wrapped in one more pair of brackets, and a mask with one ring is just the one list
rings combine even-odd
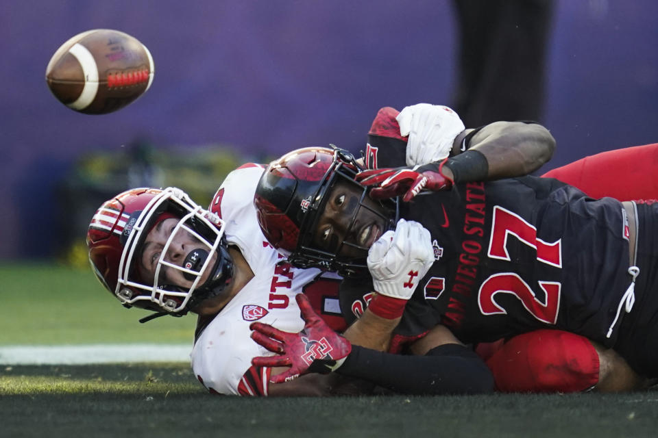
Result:
{"label": "black pants of person standing in the blurred background", "polygon": [[454,110],[466,127],[541,121],[552,0],[455,0]]}

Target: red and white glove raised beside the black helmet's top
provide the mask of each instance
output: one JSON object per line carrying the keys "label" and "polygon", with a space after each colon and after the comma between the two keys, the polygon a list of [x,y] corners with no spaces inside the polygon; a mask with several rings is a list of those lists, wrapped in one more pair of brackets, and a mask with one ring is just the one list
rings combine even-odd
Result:
{"label": "red and white glove raised beside the black helmet's top", "polygon": [[430,163],[423,166],[382,168],[363,170],[356,175],[356,181],[363,185],[375,185],[370,196],[374,199],[402,197],[402,201],[409,202],[421,190],[448,190],[453,181],[443,176],[441,164]]}

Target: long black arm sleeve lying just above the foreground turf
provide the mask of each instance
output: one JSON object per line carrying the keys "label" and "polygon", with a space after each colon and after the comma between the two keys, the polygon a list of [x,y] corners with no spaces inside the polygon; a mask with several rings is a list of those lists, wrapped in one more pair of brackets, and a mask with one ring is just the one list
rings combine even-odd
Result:
{"label": "long black arm sleeve lying just above the foreground turf", "polygon": [[337,370],[362,378],[400,394],[481,394],[493,391],[487,365],[470,350],[445,344],[425,356],[391,355],[352,346],[352,352]]}

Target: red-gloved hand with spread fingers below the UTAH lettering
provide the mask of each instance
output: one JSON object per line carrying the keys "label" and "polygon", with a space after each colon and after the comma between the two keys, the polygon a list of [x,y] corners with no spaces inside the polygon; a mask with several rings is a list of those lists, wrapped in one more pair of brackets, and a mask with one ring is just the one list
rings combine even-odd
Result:
{"label": "red-gloved hand with spread fingers below the UTAH lettering", "polygon": [[311,372],[330,373],[343,365],[352,351],[350,341],[330,329],[313,311],[306,295],[297,294],[295,299],[306,321],[300,333],[280,331],[261,322],[253,322],[249,326],[253,330],[252,339],[276,353],[274,356],[254,357],[252,365],[290,367],[290,370],[271,376],[271,383],[291,381]]}

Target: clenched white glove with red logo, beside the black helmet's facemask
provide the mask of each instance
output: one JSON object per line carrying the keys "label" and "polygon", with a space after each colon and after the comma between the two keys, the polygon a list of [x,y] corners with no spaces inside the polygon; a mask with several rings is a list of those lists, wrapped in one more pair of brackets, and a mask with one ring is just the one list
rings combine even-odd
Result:
{"label": "clenched white glove with red logo, beside the black helmet's facemask", "polygon": [[368,269],[378,294],[409,300],[434,263],[430,232],[418,222],[398,221],[368,251]]}

